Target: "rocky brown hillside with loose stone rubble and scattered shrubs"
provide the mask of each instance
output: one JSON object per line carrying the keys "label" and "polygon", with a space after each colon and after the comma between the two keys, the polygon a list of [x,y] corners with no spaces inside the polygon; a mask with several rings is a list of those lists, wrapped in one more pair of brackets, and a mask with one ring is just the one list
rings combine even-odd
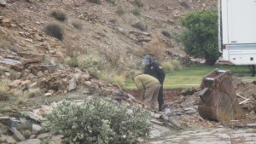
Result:
{"label": "rocky brown hillside with loose stone rubble and scattered shrubs", "polygon": [[[101,71],[94,59],[101,60],[107,72],[129,73],[146,54],[158,60],[183,58],[178,18],[216,7],[209,2],[0,0],[0,142],[40,143],[49,137],[38,115],[63,98],[84,101],[88,95],[104,95],[142,107],[118,84],[97,78]],[[64,20],[56,20],[61,14]],[[79,94],[73,93],[76,90]],[[23,124],[31,129],[19,131],[17,125]],[[58,143],[62,136],[52,141]]]}

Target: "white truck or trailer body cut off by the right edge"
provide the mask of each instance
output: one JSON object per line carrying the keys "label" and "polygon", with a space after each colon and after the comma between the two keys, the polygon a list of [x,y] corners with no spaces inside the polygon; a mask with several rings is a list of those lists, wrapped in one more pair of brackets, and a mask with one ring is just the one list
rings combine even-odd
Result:
{"label": "white truck or trailer body cut off by the right edge", "polygon": [[219,61],[256,65],[256,0],[218,0]]}

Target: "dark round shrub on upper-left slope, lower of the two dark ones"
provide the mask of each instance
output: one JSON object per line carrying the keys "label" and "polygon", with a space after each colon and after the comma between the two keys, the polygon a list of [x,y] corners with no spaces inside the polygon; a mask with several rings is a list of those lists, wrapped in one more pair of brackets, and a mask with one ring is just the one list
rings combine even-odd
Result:
{"label": "dark round shrub on upper-left slope, lower of the two dark ones", "polygon": [[44,32],[46,34],[48,34],[49,36],[55,37],[61,41],[64,38],[63,29],[61,28],[61,26],[59,26],[58,24],[55,24],[55,23],[47,25],[44,29]]}

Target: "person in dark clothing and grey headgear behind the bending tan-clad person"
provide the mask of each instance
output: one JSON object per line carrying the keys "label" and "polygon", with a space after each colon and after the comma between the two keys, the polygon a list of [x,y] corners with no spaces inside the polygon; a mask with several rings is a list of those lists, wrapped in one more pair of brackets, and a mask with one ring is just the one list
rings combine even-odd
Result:
{"label": "person in dark clothing and grey headgear behind the bending tan-clad person", "polygon": [[145,65],[144,73],[148,74],[150,76],[153,76],[154,78],[157,78],[161,84],[157,101],[159,104],[159,111],[162,109],[162,105],[164,104],[164,98],[163,98],[163,84],[164,80],[166,78],[166,72],[164,72],[162,66],[160,63],[153,60],[153,58],[150,55],[146,55],[143,59],[143,65]]}

